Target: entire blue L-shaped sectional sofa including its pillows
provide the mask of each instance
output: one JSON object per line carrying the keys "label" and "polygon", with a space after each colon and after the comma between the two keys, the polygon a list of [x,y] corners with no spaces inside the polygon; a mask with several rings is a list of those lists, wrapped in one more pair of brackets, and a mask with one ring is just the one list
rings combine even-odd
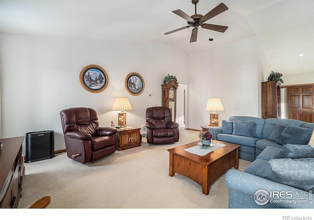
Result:
{"label": "entire blue L-shaped sectional sofa including its pillows", "polygon": [[226,173],[229,208],[314,208],[314,123],[231,116],[209,128],[214,140],[241,145],[244,172]]}

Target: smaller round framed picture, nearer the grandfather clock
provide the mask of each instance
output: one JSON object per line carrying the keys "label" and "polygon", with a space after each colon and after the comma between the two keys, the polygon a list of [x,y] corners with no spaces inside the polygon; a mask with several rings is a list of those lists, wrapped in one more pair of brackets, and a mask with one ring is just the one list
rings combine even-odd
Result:
{"label": "smaller round framed picture, nearer the grandfather clock", "polygon": [[125,86],[131,95],[139,95],[144,91],[145,83],[140,74],[131,72],[126,77]]}

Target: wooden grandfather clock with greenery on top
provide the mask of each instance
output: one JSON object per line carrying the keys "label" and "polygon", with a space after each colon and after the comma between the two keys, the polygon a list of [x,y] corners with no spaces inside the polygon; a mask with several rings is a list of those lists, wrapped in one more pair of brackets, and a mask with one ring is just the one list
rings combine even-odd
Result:
{"label": "wooden grandfather clock with greenery on top", "polygon": [[162,84],[162,107],[167,107],[171,110],[172,120],[176,121],[177,110],[177,89],[178,83],[176,80],[172,80],[170,83]]}

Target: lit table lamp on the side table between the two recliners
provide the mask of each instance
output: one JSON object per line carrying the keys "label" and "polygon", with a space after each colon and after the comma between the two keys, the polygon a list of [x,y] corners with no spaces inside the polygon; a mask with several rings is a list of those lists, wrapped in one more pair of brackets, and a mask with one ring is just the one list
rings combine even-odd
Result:
{"label": "lit table lamp on the side table between the two recliners", "polygon": [[114,101],[112,110],[121,110],[118,112],[118,126],[126,127],[127,125],[127,112],[124,110],[132,110],[131,103],[128,97],[117,97]]}

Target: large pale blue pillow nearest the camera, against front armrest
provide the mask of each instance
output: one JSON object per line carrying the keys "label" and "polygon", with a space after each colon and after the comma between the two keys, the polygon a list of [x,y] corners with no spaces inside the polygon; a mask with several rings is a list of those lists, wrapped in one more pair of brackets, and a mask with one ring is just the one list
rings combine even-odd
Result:
{"label": "large pale blue pillow nearest the camera, against front armrest", "polygon": [[309,191],[314,188],[314,158],[271,159],[255,175]]}

